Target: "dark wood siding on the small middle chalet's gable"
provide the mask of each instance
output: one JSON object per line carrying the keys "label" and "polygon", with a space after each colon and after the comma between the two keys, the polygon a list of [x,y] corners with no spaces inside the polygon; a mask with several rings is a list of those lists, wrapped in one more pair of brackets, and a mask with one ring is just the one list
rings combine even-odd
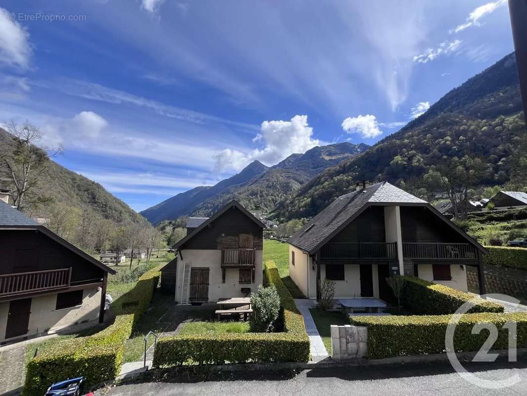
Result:
{"label": "dark wood siding on the small middle chalet's gable", "polygon": [[[264,229],[237,208],[230,208],[218,219],[194,235],[181,249],[234,249],[239,247],[240,234],[251,234],[253,247],[264,246]],[[247,243],[247,235],[243,243]]]}

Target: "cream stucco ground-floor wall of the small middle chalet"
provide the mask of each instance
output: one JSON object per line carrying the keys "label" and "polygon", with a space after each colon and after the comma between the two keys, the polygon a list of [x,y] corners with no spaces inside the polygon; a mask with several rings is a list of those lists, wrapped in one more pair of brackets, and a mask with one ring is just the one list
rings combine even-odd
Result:
{"label": "cream stucco ground-floor wall of the small middle chalet", "polygon": [[209,301],[216,302],[220,298],[243,297],[241,288],[250,288],[256,291],[262,284],[262,250],[256,251],[255,282],[250,285],[239,284],[239,269],[227,268],[225,270],[225,283],[222,283],[221,274],[221,250],[205,249],[183,249],[183,259],[178,258],[176,274],[175,300],[181,302],[181,290],[183,285],[183,270],[185,263],[191,263],[192,267],[209,268]]}

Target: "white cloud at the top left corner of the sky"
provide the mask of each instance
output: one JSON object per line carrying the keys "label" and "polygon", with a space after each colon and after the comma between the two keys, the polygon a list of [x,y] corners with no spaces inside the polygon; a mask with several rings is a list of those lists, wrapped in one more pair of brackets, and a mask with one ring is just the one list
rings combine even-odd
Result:
{"label": "white cloud at the top left corner of the sky", "polygon": [[33,49],[28,39],[30,34],[16,21],[9,19],[11,14],[0,8],[0,63],[27,69]]}

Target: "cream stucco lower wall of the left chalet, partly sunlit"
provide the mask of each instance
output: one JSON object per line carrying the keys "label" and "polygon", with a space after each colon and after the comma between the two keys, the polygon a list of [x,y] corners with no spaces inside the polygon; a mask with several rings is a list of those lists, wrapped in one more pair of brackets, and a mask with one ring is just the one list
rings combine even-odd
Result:
{"label": "cream stucco lower wall of the left chalet, partly sunlit", "polygon": [[[56,294],[33,297],[27,335],[55,333],[72,324],[99,319],[101,291],[96,288],[84,289],[82,298],[81,306],[55,309],[57,304]],[[0,303],[0,341],[5,340],[8,313],[9,301]],[[15,338],[19,337],[23,336]]]}

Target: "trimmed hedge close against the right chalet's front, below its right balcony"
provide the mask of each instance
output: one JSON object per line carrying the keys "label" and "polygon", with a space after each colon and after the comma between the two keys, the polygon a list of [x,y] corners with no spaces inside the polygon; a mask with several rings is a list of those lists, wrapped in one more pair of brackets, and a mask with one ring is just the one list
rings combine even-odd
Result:
{"label": "trimmed hedge close against the right chalet's front, below its right balcony", "polygon": [[[403,276],[403,279],[405,285],[401,303],[415,314],[453,314],[466,301],[474,298],[472,294],[414,276]],[[469,312],[503,312],[503,306],[480,298]]]}

